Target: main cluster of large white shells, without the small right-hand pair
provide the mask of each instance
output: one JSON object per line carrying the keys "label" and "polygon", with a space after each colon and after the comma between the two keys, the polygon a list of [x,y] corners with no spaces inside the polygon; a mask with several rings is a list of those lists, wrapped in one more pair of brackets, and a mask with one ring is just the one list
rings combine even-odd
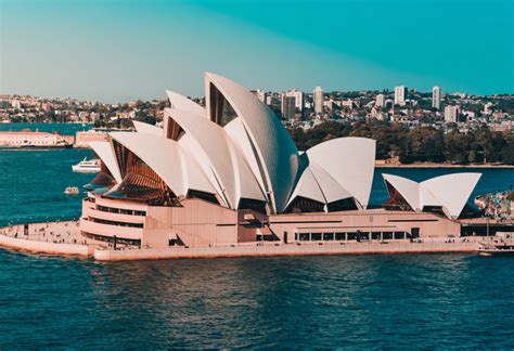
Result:
{"label": "main cluster of large white shells, without the small right-hand pair", "polygon": [[[211,86],[237,115],[224,127],[209,118]],[[134,121],[138,133],[111,135],[152,167],[178,196],[189,190],[217,194],[229,208],[237,208],[242,198],[264,200],[272,213],[283,212],[296,196],[323,204],[354,197],[368,205],[373,140],[324,142],[301,155],[306,162],[300,167],[293,139],[253,93],[210,73],[205,74],[205,88],[207,109],[168,90],[171,107],[165,110],[164,129]],[[168,117],[184,131],[177,142],[165,138]]]}

